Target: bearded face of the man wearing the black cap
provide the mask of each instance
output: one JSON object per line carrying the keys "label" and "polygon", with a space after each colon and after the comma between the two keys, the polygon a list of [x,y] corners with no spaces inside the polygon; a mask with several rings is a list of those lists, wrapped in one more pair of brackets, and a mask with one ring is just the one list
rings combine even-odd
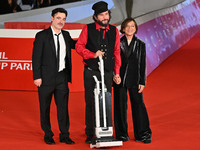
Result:
{"label": "bearded face of the man wearing the black cap", "polygon": [[110,14],[108,11],[102,12],[97,16],[94,16],[95,20],[99,23],[100,26],[106,27],[110,21]]}

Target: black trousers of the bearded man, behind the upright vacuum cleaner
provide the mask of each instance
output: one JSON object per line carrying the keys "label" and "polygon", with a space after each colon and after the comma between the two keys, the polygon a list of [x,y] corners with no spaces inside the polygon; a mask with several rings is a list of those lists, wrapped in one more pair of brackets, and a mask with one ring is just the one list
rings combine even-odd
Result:
{"label": "black trousers of the bearded man, behind the upright vacuum cleaner", "polygon": [[[98,78],[99,81],[101,81],[100,71],[91,70],[85,67],[84,69],[84,87],[85,87],[85,103],[86,103],[85,134],[87,136],[94,136],[94,127],[95,127],[94,88],[96,85],[93,78],[94,75]],[[104,72],[105,85],[108,92],[111,92],[112,89],[112,75],[113,75],[112,71]],[[112,119],[108,118],[108,120]],[[112,126],[110,125],[111,123],[112,121],[108,122],[108,126]]]}

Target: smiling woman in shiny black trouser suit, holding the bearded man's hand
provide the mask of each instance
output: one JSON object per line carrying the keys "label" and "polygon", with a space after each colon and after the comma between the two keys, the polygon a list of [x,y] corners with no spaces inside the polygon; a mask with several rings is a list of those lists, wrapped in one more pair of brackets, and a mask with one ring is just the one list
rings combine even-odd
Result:
{"label": "smiling woman in shiny black trouser suit, holding the bearded man's hand", "polygon": [[[146,85],[146,48],[145,43],[137,38],[138,27],[133,18],[125,19],[121,24],[120,50],[122,65],[120,68],[121,84],[114,84],[114,123],[116,138],[128,141],[127,126],[127,90],[129,91],[134,135],[136,142],[151,142],[149,118],[143,100],[142,91]],[[117,82],[117,78],[114,78]]]}

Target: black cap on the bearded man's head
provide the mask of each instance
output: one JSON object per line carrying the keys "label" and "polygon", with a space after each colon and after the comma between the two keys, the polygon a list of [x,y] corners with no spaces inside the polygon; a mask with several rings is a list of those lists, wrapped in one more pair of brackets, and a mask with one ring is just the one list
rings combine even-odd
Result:
{"label": "black cap on the bearded man's head", "polygon": [[108,10],[108,4],[104,1],[99,1],[92,6],[92,9],[94,10],[94,14],[98,15]]}

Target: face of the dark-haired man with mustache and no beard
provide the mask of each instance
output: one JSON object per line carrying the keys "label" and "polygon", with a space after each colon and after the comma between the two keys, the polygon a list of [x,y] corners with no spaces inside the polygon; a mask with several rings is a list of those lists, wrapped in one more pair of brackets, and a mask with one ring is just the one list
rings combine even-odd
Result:
{"label": "face of the dark-haired man with mustache and no beard", "polygon": [[66,15],[65,13],[56,13],[54,16],[51,16],[51,25],[55,31],[60,31],[66,21]]}

